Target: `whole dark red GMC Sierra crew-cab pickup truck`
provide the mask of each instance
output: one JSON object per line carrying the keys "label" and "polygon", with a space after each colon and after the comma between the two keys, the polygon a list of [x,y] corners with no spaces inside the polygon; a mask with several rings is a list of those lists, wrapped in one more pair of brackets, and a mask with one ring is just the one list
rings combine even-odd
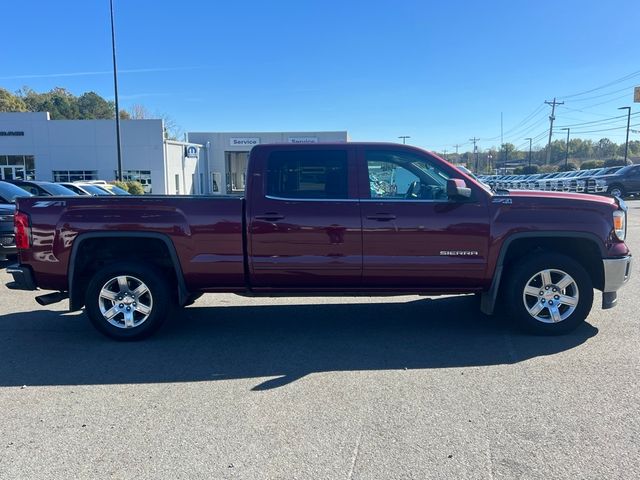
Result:
{"label": "whole dark red GMC Sierra crew-cab pickup truck", "polygon": [[10,288],[54,290],[117,339],[204,292],[477,293],[531,331],[572,330],[629,279],[615,198],[492,192],[420,149],[260,145],[239,197],[21,198]]}

